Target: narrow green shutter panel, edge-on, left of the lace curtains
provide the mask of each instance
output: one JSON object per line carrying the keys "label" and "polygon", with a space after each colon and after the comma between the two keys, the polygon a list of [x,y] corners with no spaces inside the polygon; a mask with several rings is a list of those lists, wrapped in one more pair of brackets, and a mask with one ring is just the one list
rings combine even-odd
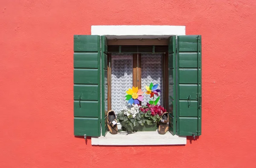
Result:
{"label": "narrow green shutter panel, edge-on, left of the lace curtains", "polygon": [[108,44],[107,38],[101,36],[101,76],[102,76],[102,135],[108,132],[107,113],[108,113]]}

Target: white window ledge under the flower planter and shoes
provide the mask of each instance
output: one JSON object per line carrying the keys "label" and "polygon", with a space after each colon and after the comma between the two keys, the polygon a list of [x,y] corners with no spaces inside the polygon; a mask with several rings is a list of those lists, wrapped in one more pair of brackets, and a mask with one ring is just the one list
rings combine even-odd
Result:
{"label": "white window ledge under the flower planter and shoes", "polygon": [[110,134],[106,136],[92,137],[92,145],[185,145],[186,136],[172,135],[170,132],[161,135],[155,132],[136,132],[134,134]]}

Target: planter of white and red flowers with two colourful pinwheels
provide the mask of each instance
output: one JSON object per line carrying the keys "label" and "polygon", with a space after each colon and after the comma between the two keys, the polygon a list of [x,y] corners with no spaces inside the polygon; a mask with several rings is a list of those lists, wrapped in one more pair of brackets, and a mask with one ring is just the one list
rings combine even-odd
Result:
{"label": "planter of white and red flowers with two colourful pinwheels", "polygon": [[[130,106],[125,106],[117,115],[119,123],[122,125],[122,130],[132,132],[140,130],[142,126],[153,126],[153,129],[156,130],[156,125],[159,122],[161,115],[166,112],[162,106],[157,105],[160,96],[160,90],[157,89],[158,84],[153,85],[152,83],[148,86],[145,86],[147,92],[146,94],[150,95],[153,98],[153,101],[149,101],[146,106],[141,106],[143,101],[143,92],[138,87],[133,87],[128,89],[126,93],[126,100]],[[154,97],[157,96],[156,100]]]}

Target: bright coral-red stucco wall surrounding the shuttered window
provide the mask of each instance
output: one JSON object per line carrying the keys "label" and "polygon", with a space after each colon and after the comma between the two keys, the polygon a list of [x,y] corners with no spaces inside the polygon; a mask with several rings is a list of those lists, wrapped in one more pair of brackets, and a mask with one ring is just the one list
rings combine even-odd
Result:
{"label": "bright coral-red stucco wall surrounding the shuttered window", "polygon": [[[0,167],[255,168],[255,8],[255,0],[1,0]],[[186,25],[202,35],[198,140],[102,147],[73,136],[73,34],[91,25]]]}

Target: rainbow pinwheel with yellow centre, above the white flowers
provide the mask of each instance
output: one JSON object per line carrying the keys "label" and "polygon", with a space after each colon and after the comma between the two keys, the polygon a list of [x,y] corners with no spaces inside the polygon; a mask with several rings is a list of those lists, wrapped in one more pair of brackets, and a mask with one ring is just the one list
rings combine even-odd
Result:
{"label": "rainbow pinwheel with yellow centre, above the white flowers", "polygon": [[132,89],[129,89],[126,93],[128,95],[125,96],[125,100],[128,100],[129,104],[140,104],[140,101],[143,101],[143,92],[141,89],[138,89],[138,87],[132,87]]}

